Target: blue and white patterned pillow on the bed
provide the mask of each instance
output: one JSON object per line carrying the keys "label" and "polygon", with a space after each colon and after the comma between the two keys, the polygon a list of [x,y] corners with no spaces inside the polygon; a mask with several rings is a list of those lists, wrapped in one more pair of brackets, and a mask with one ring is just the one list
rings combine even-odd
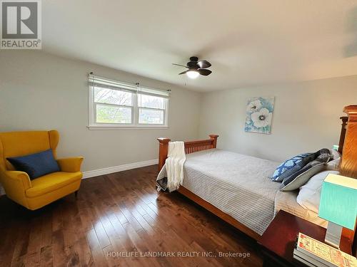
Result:
{"label": "blue and white patterned pillow on the bed", "polygon": [[[311,157],[314,153],[303,153],[292,157],[291,159],[286,160],[278,167],[276,167],[275,172],[271,176],[271,180],[274,182],[281,182],[283,179],[291,174],[291,172],[296,172],[298,169],[301,169],[307,163],[307,157]],[[285,174],[285,175],[284,175]],[[288,175],[286,175],[288,174]]]}

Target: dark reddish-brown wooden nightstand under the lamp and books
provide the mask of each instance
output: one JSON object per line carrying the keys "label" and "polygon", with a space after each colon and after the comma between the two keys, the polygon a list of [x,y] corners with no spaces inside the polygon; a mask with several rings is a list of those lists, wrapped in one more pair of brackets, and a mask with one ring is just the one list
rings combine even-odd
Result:
{"label": "dark reddish-brown wooden nightstand under the lamp and books", "polygon": [[[326,229],[323,227],[286,211],[278,211],[258,241],[264,258],[263,266],[305,266],[293,259],[293,248],[298,232],[321,242],[325,240]],[[340,248],[341,251],[351,254],[351,242],[343,236]]]}

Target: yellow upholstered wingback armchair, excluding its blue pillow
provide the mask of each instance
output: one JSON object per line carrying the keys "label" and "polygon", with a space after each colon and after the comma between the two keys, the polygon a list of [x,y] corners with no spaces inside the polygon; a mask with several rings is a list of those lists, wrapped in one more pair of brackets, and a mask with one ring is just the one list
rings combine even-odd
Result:
{"label": "yellow upholstered wingback armchair, excluding its blue pillow", "polygon": [[56,159],[61,172],[53,172],[30,180],[26,172],[18,172],[6,159],[51,149],[56,158],[59,132],[0,132],[0,182],[7,197],[27,209],[35,210],[77,193],[81,185],[83,157]]}

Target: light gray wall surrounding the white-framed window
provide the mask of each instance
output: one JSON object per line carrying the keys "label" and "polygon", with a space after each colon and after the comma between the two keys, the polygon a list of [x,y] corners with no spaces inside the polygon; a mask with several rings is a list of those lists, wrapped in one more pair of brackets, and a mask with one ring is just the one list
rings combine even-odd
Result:
{"label": "light gray wall surrounding the white-framed window", "polygon": [[[87,74],[170,88],[169,129],[88,130]],[[59,157],[83,155],[83,170],[157,159],[157,137],[196,139],[201,95],[157,80],[39,51],[0,51],[0,131],[59,130]]]}

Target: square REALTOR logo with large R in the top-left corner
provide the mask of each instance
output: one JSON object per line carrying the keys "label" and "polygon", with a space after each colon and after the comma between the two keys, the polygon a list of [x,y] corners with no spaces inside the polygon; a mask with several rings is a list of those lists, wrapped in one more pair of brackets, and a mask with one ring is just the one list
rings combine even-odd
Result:
{"label": "square REALTOR logo with large R in the top-left corner", "polygon": [[41,49],[41,1],[0,0],[1,49]]}

